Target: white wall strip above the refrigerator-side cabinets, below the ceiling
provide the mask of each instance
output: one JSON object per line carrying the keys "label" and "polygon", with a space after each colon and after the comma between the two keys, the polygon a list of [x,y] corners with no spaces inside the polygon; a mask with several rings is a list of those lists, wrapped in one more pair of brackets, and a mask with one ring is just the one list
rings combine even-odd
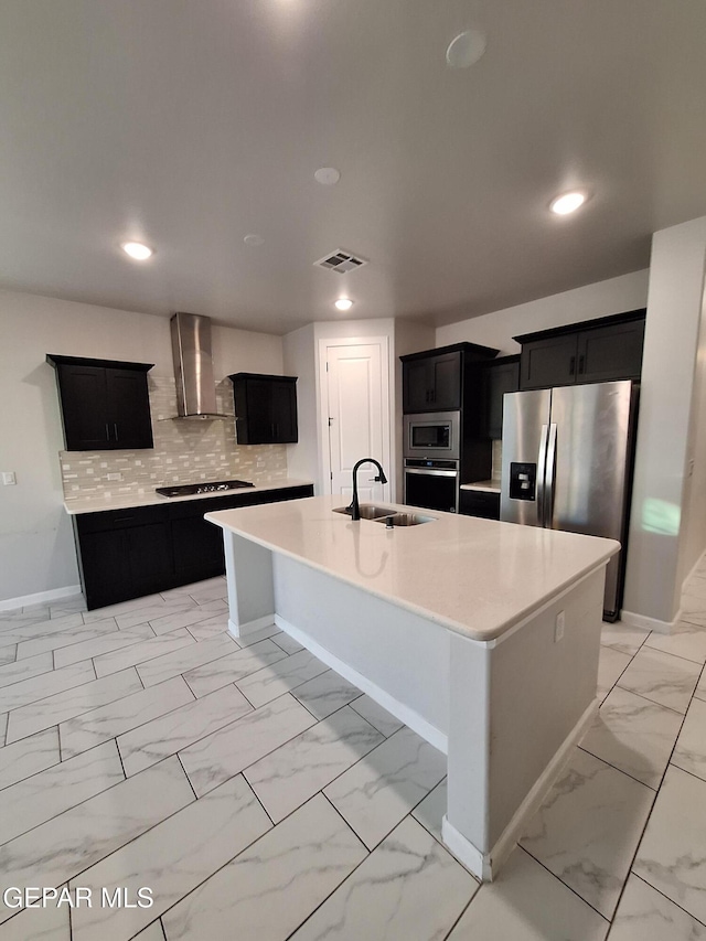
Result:
{"label": "white wall strip above the refrigerator-side cabinets, below the ceiling", "polygon": [[644,307],[648,300],[648,270],[634,271],[632,275],[597,281],[573,291],[439,327],[435,345],[446,346],[468,340],[493,346],[500,350],[501,356],[518,353],[520,344],[515,343],[513,336]]}

